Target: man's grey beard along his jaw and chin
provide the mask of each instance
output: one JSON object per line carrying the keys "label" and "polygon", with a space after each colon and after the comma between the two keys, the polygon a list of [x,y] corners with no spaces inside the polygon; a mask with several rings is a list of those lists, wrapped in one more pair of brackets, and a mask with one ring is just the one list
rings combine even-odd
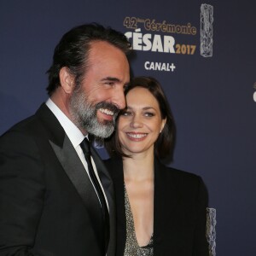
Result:
{"label": "man's grey beard along his jaw and chin", "polygon": [[106,138],[110,137],[113,133],[117,113],[113,115],[112,121],[106,120],[104,123],[100,123],[96,114],[100,104],[91,105],[85,96],[84,90],[79,88],[73,91],[70,101],[70,112],[75,125],[78,125],[80,129],[87,131],[95,137]]}

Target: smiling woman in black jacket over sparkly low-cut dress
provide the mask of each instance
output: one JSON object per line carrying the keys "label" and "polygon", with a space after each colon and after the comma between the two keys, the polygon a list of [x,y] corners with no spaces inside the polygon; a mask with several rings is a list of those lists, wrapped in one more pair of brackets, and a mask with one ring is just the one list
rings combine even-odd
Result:
{"label": "smiling woman in black jacket over sparkly low-cut dress", "polygon": [[156,79],[138,77],[105,147],[117,208],[117,256],[206,256],[207,190],[201,177],[160,163],[174,124]]}

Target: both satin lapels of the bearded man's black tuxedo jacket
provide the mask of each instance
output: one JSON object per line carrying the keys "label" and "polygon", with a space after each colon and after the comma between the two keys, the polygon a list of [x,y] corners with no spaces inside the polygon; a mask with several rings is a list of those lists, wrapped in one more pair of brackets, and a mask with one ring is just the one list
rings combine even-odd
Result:
{"label": "both satin lapels of the bearded man's black tuxedo jacket", "polygon": [[[39,119],[41,119],[44,127],[46,128],[46,136],[49,137],[49,143],[53,148],[56,157],[60,161],[63,170],[67,173],[67,176],[73,183],[73,186],[78,191],[82,201],[84,202],[84,205],[90,214],[91,223],[94,224],[94,226],[98,225],[96,227],[96,232],[99,232],[99,226],[101,226],[102,221],[102,210],[100,208],[100,203],[97,199],[96,192],[90,183],[90,178],[88,177],[86,171],[84,170],[84,166],[79,159],[79,155],[73,148],[72,143],[67,137],[58,119],[55,118],[54,113],[52,113],[45,104],[42,104],[36,115]],[[105,194],[108,198],[110,218],[108,256],[113,256],[115,254],[116,239],[113,183],[112,179],[109,177],[106,167],[94,148],[91,149],[91,154],[95,161],[99,177],[101,178]],[[100,230],[100,232],[100,234],[102,234],[102,230]]]}

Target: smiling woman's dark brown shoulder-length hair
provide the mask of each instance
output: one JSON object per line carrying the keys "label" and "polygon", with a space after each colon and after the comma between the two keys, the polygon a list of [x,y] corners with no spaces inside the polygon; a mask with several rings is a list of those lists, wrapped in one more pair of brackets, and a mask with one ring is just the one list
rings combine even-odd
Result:
{"label": "smiling woman's dark brown shoulder-length hair", "polygon": [[[154,143],[154,154],[160,159],[172,159],[175,125],[166,95],[158,80],[152,77],[137,77],[132,79],[131,83],[125,87],[125,96],[130,90],[137,87],[147,89],[154,96],[160,107],[161,118],[166,119],[166,125]],[[115,131],[111,137],[105,140],[104,145],[111,157],[130,156],[124,154],[122,151],[117,131]]]}

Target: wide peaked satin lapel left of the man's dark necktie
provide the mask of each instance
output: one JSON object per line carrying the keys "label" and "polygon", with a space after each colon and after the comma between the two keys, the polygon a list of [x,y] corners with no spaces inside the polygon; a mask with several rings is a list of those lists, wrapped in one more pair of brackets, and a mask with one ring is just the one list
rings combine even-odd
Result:
{"label": "wide peaked satin lapel left of the man's dark necktie", "polygon": [[100,218],[100,204],[90,183],[90,178],[58,119],[45,104],[38,109],[36,115],[44,124],[49,137],[49,144],[53,148],[63,170],[78,191],[92,219]]}

